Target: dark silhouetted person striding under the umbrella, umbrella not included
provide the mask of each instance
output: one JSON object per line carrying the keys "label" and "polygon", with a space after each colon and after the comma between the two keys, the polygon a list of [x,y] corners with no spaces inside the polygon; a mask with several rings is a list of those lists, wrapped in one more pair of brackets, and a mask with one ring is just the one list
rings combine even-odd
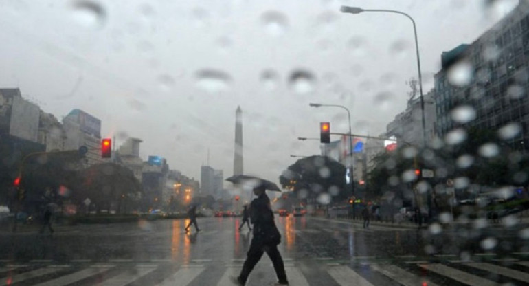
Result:
{"label": "dark silhouetted person striding under the umbrella, umbrella not included", "polygon": [[254,237],[251,239],[250,249],[239,276],[231,277],[232,282],[236,285],[246,284],[251,270],[254,269],[264,252],[267,252],[270,257],[275,275],[278,276],[278,282],[275,285],[289,285],[283,259],[278,250],[281,234],[273,221],[270,199],[264,193],[265,190],[264,185],[254,188],[254,194],[257,198],[251,201],[249,207],[250,221],[254,225]]}

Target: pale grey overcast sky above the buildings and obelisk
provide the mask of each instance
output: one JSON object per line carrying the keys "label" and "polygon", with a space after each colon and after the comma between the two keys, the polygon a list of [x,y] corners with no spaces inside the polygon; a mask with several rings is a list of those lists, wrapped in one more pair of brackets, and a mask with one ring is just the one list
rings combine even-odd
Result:
{"label": "pale grey overcast sky above the buildings and obelisk", "polygon": [[144,159],[160,155],[196,179],[208,150],[210,166],[232,175],[240,105],[245,173],[278,181],[289,155],[319,153],[319,142],[297,137],[318,137],[320,121],[348,131],[343,110],[309,102],[345,105],[353,133],[379,135],[417,76],[408,19],[340,5],[414,17],[426,93],[441,52],[471,43],[516,3],[1,1],[0,87],[20,87],[59,120],[91,113],[103,137],[139,137]]}

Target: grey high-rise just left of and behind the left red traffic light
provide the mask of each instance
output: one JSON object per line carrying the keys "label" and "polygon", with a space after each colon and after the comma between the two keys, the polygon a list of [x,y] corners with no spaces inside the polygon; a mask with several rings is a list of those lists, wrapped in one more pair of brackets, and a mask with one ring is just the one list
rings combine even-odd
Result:
{"label": "grey high-rise just left of and behind the left red traffic light", "polygon": [[73,109],[63,119],[63,129],[66,133],[65,150],[86,146],[88,166],[109,161],[101,157],[101,120],[80,109]]}

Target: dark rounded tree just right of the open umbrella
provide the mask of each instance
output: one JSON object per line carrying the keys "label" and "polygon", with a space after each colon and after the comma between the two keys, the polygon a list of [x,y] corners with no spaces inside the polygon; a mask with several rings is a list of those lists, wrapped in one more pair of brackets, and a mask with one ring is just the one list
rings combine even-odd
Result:
{"label": "dark rounded tree just right of the open umbrella", "polygon": [[297,197],[328,193],[333,200],[341,201],[350,195],[346,188],[346,167],[330,157],[315,155],[298,159],[280,175],[279,181]]}

